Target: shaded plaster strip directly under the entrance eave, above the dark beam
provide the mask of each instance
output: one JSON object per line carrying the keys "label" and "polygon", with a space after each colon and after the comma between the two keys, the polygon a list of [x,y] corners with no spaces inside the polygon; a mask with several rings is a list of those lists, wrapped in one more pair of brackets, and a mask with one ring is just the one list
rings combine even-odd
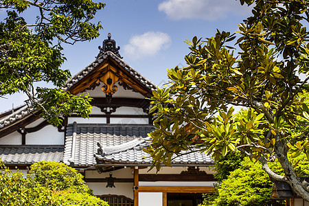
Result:
{"label": "shaded plaster strip directly under the entrance eave, above the dark beam", "polygon": [[[150,167],[145,168],[145,169],[140,169],[139,174],[156,174],[156,169],[153,168],[148,172]],[[206,174],[214,174],[215,171],[212,170],[210,167],[198,167],[200,171],[205,171]],[[181,172],[187,171],[186,166],[174,166],[174,167],[162,167],[157,174],[181,174]]]}

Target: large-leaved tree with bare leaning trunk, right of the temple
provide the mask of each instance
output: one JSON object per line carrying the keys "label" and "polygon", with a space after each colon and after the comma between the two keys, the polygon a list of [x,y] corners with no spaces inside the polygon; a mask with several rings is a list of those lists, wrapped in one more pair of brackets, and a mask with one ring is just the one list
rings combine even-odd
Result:
{"label": "large-leaved tree with bare leaning trunk, right of the temple", "polygon": [[[153,92],[150,112],[157,119],[148,152],[159,169],[183,150],[207,152],[214,159],[240,150],[309,201],[309,183],[300,181],[288,159],[288,154],[295,158],[301,152],[309,157],[309,109],[301,98],[309,80],[309,36],[304,27],[309,22],[309,2],[240,3],[255,6],[253,15],[239,25],[238,56],[229,45],[235,34],[217,31],[205,41],[194,37],[187,41],[191,50],[185,56],[187,67],[168,69],[169,87]],[[229,106],[248,110],[236,116]],[[192,142],[196,134],[203,144]],[[276,159],[283,175],[268,166]]]}

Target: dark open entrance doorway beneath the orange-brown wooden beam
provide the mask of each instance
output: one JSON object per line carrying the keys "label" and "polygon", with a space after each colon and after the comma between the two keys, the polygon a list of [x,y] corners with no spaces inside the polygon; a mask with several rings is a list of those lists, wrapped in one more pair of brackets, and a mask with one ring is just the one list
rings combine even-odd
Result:
{"label": "dark open entrance doorway beneath the orange-brown wooden beam", "polygon": [[201,193],[168,193],[168,206],[197,206],[201,203]]}

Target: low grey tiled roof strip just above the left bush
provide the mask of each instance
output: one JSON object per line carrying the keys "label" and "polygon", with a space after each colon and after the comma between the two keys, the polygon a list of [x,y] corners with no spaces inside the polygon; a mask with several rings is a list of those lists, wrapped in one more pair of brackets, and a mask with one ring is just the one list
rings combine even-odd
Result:
{"label": "low grey tiled roof strip just above the left bush", "polygon": [[62,161],[64,146],[19,145],[0,146],[5,164],[32,164],[38,161]]}

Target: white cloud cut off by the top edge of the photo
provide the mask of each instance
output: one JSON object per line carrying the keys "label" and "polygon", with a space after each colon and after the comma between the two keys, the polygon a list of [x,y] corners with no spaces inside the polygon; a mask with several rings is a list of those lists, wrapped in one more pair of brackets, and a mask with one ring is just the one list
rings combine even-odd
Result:
{"label": "white cloud cut off by the top edge of the photo", "polygon": [[159,4],[159,11],[172,20],[223,19],[227,14],[249,14],[251,8],[235,0],[166,0]]}

